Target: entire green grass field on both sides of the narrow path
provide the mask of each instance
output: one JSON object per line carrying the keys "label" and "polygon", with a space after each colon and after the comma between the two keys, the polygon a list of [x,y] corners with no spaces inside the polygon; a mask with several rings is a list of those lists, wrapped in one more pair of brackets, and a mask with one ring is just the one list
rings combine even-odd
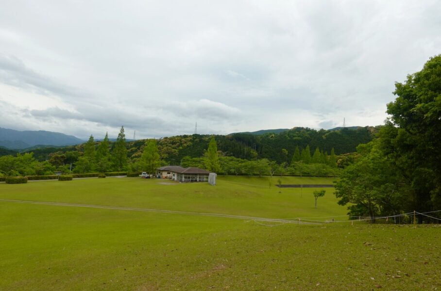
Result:
{"label": "entire green grass field on both sides of the narrow path", "polygon": [[[106,178],[0,184],[0,199],[347,220],[332,189],[315,209],[314,190],[268,178],[221,177],[215,187]],[[275,226],[0,201],[0,290],[440,289],[439,226],[263,224]]]}

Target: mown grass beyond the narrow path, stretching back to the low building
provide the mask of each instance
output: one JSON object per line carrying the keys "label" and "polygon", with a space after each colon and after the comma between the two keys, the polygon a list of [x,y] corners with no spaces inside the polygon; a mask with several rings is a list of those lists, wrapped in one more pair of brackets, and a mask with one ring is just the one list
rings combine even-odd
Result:
{"label": "mown grass beyond the narrow path, stretching back to the low building", "polygon": [[[278,178],[221,177],[208,183],[177,183],[167,179],[105,178],[0,184],[0,198],[195,211],[267,218],[345,215],[332,188],[314,208],[312,188],[278,188]],[[300,178],[283,178],[296,184]],[[332,179],[302,178],[309,184],[332,184]],[[317,182],[318,181],[318,182]]]}

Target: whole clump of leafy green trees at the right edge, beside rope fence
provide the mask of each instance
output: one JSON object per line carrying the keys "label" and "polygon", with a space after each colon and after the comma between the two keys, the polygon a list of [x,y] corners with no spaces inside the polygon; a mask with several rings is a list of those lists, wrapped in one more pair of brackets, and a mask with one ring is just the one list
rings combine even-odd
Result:
{"label": "whole clump of leafy green trees at the right edge, beside rope fence", "polygon": [[[418,223],[440,221],[441,55],[396,82],[387,119],[376,138],[357,147],[356,159],[336,183],[339,204],[354,216],[395,216],[418,211]],[[427,214],[427,212],[432,212]],[[427,216],[428,215],[428,216]],[[429,217],[431,216],[431,217]]]}

